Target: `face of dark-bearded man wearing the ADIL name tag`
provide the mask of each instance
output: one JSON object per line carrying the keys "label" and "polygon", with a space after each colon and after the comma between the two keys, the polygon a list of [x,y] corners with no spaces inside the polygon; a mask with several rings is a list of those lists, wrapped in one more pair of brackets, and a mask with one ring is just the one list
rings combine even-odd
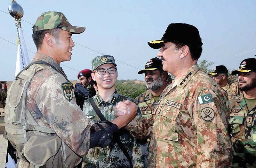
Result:
{"label": "face of dark-bearded man wearing the ADIL name tag", "polygon": [[256,88],[256,73],[239,73],[238,74],[238,88],[242,91],[248,91]]}

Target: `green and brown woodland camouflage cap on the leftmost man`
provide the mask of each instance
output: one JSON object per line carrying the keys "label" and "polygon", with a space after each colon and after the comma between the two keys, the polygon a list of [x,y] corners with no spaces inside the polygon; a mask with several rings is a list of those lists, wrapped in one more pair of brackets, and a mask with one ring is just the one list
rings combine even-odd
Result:
{"label": "green and brown woodland camouflage cap on the leftmost man", "polygon": [[61,12],[48,11],[42,13],[33,25],[33,33],[41,30],[56,29],[71,32],[72,34],[79,34],[85,31],[85,27],[72,26],[68,19]]}

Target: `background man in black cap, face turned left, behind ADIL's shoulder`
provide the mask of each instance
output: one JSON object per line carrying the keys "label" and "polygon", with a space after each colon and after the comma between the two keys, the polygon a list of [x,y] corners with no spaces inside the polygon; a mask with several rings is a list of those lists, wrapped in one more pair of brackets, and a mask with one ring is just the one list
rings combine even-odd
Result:
{"label": "background man in black cap, face turned left, behind ADIL's shoulder", "polygon": [[212,79],[220,85],[220,87],[228,93],[228,99],[240,94],[237,82],[231,82],[228,79],[228,69],[224,65],[216,66],[213,72],[208,75],[212,75]]}

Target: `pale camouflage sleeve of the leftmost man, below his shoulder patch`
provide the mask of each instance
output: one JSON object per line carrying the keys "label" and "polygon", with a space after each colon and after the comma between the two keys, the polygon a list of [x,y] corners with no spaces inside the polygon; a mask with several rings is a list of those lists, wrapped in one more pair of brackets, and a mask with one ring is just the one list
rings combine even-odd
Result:
{"label": "pale camouflage sleeve of the leftmost man, below his shoulder patch", "polygon": [[[78,155],[85,156],[90,146],[92,122],[76,105],[72,89],[70,99],[64,96],[62,84],[68,82],[60,74],[49,76],[36,95],[36,103],[49,126]],[[73,96],[73,97],[72,97]]]}

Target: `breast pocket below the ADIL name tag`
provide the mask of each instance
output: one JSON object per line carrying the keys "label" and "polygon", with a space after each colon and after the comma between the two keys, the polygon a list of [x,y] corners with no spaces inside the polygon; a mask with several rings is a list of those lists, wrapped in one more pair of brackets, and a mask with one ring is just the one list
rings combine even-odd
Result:
{"label": "breast pocket below the ADIL name tag", "polygon": [[231,127],[230,135],[241,139],[244,132],[244,113],[231,113],[228,123]]}

